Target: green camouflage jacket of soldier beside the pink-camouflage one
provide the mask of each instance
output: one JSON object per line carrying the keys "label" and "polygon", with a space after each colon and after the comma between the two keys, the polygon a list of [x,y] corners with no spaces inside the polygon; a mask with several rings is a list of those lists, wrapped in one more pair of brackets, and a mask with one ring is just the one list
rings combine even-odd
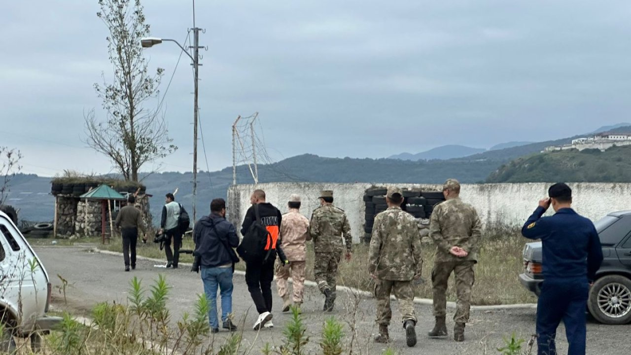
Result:
{"label": "green camouflage jacket of soldier beside the pink-camouflage one", "polygon": [[344,248],[342,236],[346,241],[346,251],[350,253],[353,250],[351,226],[346,213],[331,203],[326,203],[314,210],[309,224],[309,234],[314,241],[316,253],[342,251]]}

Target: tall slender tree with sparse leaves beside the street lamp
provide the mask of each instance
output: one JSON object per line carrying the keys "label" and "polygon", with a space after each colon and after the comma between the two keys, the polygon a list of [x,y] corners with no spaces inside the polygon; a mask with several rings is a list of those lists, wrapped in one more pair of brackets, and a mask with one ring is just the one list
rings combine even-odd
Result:
{"label": "tall slender tree with sparse leaves beside the street lamp", "polygon": [[148,100],[158,97],[164,69],[151,75],[142,55],[140,39],[149,35],[140,0],[99,0],[97,13],[107,26],[109,59],[114,67],[111,83],[94,84],[106,121],[98,121],[92,110],[84,114],[86,143],[107,155],[126,180],[138,181],[146,162],[165,157],[177,147],[168,138],[160,107],[147,109]]}

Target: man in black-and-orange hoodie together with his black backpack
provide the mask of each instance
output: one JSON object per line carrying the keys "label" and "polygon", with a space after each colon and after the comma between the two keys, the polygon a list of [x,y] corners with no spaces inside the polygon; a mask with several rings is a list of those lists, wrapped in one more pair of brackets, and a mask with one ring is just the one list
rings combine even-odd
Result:
{"label": "man in black-and-orange hoodie together with his black backpack", "polygon": [[276,255],[284,267],[288,267],[289,262],[280,247],[283,219],[280,210],[265,201],[263,190],[254,190],[250,202],[252,207],[245,213],[241,226],[244,238],[237,252],[245,260],[245,282],[259,313],[253,328],[260,330],[261,327],[273,327],[270,322],[273,318],[271,284]]}

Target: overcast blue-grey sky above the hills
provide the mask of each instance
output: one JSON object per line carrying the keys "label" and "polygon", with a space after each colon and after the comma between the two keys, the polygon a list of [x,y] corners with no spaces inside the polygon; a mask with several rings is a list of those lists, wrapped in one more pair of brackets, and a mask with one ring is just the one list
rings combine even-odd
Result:
{"label": "overcast blue-grey sky above the hills", "polygon": [[[192,0],[143,4],[151,35],[186,39]],[[93,83],[112,71],[97,11],[97,0],[3,2],[0,145],[21,150],[24,172],[111,171],[82,143],[83,112],[105,118]],[[198,0],[196,15],[211,171],[232,164],[232,121],[255,111],[276,160],[488,148],[630,119],[628,1]],[[165,68],[163,91],[179,52],[144,50]],[[179,150],[162,171],[192,170],[189,63],[165,96]]]}

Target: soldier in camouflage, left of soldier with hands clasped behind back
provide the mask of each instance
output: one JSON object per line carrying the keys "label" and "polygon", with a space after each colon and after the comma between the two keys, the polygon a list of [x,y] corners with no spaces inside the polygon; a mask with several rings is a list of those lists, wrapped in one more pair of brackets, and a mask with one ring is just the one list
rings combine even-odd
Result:
{"label": "soldier in camouflage, left of soldier with hands clasped behind back", "polygon": [[418,225],[412,215],[401,210],[403,193],[388,188],[388,209],[375,217],[370,238],[369,272],[375,279],[379,335],[375,342],[388,342],[388,325],[392,318],[390,294],[399,301],[408,346],[416,345],[416,316],[412,280],[421,277],[423,259]]}

